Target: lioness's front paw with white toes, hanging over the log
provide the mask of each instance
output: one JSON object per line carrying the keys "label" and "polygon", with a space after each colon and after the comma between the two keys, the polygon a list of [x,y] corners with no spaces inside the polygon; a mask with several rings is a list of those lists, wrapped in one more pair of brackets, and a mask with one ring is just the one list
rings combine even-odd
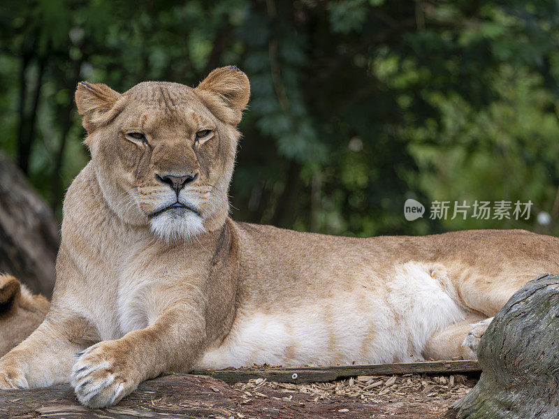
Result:
{"label": "lioness's front paw with white toes, hanging over the log", "polygon": [[[71,385],[78,400],[92,408],[117,404],[122,397],[136,390],[137,372],[119,361],[117,341],[102,341],[78,354],[72,367]],[[136,373],[136,374],[135,374]]]}

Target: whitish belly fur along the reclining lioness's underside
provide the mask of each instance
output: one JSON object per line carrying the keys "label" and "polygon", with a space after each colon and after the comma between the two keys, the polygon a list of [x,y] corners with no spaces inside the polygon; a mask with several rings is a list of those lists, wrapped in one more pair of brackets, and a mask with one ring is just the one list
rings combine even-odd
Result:
{"label": "whitish belly fur along the reclining lioness's underside", "polygon": [[226,339],[207,351],[196,368],[422,360],[426,341],[467,314],[441,265],[406,263],[383,281],[386,288],[363,288],[358,295],[287,309],[245,304]]}

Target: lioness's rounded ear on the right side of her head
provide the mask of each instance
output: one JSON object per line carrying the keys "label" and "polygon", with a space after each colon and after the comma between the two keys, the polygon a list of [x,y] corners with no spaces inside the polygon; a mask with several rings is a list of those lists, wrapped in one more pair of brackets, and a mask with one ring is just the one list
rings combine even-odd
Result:
{"label": "lioness's rounded ear on the right side of her head", "polygon": [[[235,66],[216,68],[195,91],[219,119],[237,125],[250,97],[247,75]],[[223,105],[229,111],[223,109]]]}

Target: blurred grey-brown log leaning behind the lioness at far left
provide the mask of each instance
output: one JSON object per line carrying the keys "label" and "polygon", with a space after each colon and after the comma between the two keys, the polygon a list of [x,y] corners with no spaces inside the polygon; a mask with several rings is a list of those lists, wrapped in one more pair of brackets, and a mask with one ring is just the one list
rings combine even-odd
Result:
{"label": "blurred grey-brown log leaning behind the lioness at far left", "polygon": [[21,170],[0,152],[0,273],[50,298],[59,223]]}

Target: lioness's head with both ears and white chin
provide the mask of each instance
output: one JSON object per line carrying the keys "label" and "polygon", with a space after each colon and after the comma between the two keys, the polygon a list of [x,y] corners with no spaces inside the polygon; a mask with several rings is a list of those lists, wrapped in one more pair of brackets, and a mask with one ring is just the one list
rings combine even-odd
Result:
{"label": "lioness's head with both ears and white chin", "polygon": [[80,82],[75,103],[103,197],[165,239],[222,226],[249,81],[217,68],[198,87],[143,82],[123,94]]}

